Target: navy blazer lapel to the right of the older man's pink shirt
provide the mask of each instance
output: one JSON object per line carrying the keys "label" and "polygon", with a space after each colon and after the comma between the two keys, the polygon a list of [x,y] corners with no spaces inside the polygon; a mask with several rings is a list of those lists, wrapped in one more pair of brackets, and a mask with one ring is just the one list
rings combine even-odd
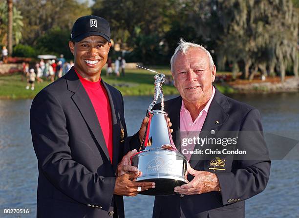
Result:
{"label": "navy blazer lapel to the right of the older man's pink shirt", "polygon": [[[216,88],[215,88],[216,89]],[[215,131],[215,134],[217,131],[220,130],[223,123],[228,119],[229,115],[226,113],[226,109],[229,108],[230,105],[226,99],[226,97],[221,94],[217,89],[215,90],[214,99],[211,102],[207,117],[205,119],[205,122],[203,124],[203,127],[200,131],[199,137],[200,138],[212,138],[214,134],[211,133],[212,130]],[[218,122],[216,122],[218,121]],[[207,145],[204,145],[205,148],[207,148]],[[202,149],[203,147],[200,147],[200,145],[196,144],[194,147],[195,149]],[[190,166],[194,168],[199,162],[201,162],[203,159],[196,159],[196,155],[192,155],[190,158]]]}

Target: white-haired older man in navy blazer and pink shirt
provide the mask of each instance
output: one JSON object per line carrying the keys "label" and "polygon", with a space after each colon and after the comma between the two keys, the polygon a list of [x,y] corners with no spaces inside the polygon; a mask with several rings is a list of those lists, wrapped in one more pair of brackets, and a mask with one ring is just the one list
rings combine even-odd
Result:
{"label": "white-haired older man in navy blazer and pink shirt", "polygon": [[[190,182],[175,187],[176,195],[156,196],[153,218],[245,217],[244,200],[263,191],[270,174],[258,110],[224,96],[212,85],[216,67],[201,45],[180,40],[171,58],[171,73],[180,96],[166,101],[165,111],[172,122],[174,143],[189,161]],[[247,151],[250,157],[224,155],[230,147],[224,144],[181,146],[178,139],[186,132],[206,139],[234,133],[238,138],[234,148]],[[190,152],[199,149],[212,152]]]}

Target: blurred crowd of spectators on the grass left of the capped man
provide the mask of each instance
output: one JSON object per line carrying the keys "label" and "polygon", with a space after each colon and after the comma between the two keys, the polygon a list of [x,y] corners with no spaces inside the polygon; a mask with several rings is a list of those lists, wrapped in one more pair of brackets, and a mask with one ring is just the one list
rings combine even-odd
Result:
{"label": "blurred crowd of spectators on the grass left of the capped man", "polygon": [[36,62],[34,66],[30,68],[29,63],[22,63],[23,74],[21,75],[22,81],[24,78],[27,80],[26,89],[34,90],[34,83],[43,82],[43,79],[49,79],[53,82],[55,79],[61,78],[66,74],[69,69],[74,65],[74,62],[66,62],[64,55],[60,55],[59,59],[41,59],[39,62]]}

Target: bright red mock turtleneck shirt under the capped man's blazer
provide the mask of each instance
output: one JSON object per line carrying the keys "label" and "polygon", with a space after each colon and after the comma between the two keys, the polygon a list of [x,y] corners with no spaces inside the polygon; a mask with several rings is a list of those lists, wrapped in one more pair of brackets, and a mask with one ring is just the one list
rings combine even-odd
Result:
{"label": "bright red mock turtleneck shirt under the capped man's blazer", "polygon": [[111,120],[111,108],[107,91],[101,82],[101,78],[97,82],[91,82],[84,79],[77,73],[87,95],[92,103],[92,106],[98,117],[104,139],[109,152],[110,161],[112,163],[112,120]]}

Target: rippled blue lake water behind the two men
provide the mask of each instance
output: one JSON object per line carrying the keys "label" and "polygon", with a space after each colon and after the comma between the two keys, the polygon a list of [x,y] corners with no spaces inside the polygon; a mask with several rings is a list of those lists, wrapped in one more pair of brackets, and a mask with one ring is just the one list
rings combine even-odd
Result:
{"label": "rippled blue lake water behind the two men", "polygon": [[[265,132],[299,140],[299,93],[232,97],[259,109]],[[139,129],[151,100],[152,97],[124,97],[129,135]],[[0,100],[0,218],[18,217],[4,214],[3,210],[8,208],[30,210],[20,218],[36,214],[38,171],[29,128],[31,102],[29,99]],[[295,158],[272,162],[265,191],[246,200],[247,218],[299,217],[298,155],[296,152]],[[142,195],[125,197],[126,217],[151,218],[153,199]]]}

